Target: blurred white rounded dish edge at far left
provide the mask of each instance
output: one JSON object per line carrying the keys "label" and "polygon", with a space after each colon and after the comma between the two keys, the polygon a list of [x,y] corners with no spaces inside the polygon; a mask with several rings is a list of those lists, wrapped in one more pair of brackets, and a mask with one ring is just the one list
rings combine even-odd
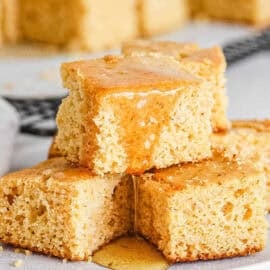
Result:
{"label": "blurred white rounded dish edge at far left", "polygon": [[19,117],[17,112],[0,98],[0,176],[10,168],[18,126]]}

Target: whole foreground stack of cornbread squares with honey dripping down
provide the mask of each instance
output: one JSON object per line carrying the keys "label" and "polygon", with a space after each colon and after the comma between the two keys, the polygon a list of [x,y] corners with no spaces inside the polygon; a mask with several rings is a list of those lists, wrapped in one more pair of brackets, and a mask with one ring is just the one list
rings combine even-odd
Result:
{"label": "whole foreground stack of cornbread squares with honey dripping down", "polygon": [[134,233],[171,262],[262,250],[269,122],[231,125],[225,69],[219,47],[148,41],[63,64],[50,159],[0,180],[0,240],[70,260]]}

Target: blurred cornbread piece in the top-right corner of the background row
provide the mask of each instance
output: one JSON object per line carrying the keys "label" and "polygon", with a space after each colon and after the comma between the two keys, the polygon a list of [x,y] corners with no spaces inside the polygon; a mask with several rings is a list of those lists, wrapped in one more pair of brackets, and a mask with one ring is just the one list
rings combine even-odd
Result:
{"label": "blurred cornbread piece in the top-right corner of the background row", "polygon": [[238,21],[259,26],[270,24],[269,0],[190,0],[192,16]]}

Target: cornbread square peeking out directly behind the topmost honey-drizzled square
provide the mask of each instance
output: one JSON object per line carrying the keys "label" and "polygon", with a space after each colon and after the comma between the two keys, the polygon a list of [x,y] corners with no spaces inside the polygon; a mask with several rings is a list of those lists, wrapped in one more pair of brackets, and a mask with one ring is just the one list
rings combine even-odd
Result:
{"label": "cornbread square peeking out directly behind the topmost honey-drizzled square", "polygon": [[218,46],[201,49],[195,43],[137,40],[126,42],[122,48],[125,55],[163,54],[174,57],[180,66],[209,83],[214,98],[212,126],[214,131],[230,127],[227,119],[228,98],[225,87],[226,60]]}

